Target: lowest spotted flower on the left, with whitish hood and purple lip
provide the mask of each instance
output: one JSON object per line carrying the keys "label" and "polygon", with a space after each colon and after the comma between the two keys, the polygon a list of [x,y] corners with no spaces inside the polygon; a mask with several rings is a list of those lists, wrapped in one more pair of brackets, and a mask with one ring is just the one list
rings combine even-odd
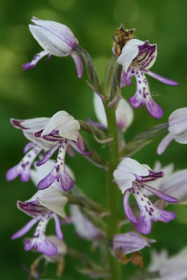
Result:
{"label": "lowest spotted flower on the left, with whitish hood and purple lip", "polygon": [[57,216],[65,217],[64,207],[67,204],[67,197],[64,197],[55,188],[50,187],[47,190],[39,190],[30,200],[26,202],[18,201],[18,209],[32,216],[22,229],[15,232],[12,239],[17,239],[25,235],[37,222],[39,224],[34,230],[34,237],[25,241],[25,251],[32,248],[45,255],[56,255],[57,247],[46,237],[46,226],[51,218],[55,220],[55,232],[58,239],[62,239],[62,231],[60,228],[60,220]]}

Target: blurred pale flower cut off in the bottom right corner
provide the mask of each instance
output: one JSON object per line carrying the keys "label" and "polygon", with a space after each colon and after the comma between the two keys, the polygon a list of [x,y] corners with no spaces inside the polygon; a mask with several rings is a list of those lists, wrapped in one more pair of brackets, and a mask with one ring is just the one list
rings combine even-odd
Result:
{"label": "blurred pale flower cut off in the bottom right corner", "polygon": [[[176,255],[168,257],[167,251],[151,253],[151,264],[148,266],[149,272],[159,273],[158,280],[186,280],[187,277],[187,248],[183,248]],[[157,280],[153,279],[153,280]],[[146,279],[149,280],[149,279]]]}

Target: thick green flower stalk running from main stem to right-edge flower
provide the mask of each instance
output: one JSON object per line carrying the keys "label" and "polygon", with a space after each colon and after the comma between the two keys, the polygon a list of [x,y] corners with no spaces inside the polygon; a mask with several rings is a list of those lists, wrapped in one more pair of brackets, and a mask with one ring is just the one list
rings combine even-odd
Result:
{"label": "thick green flower stalk running from main stem to right-edge flower", "polygon": [[149,130],[145,130],[137,134],[130,142],[127,143],[125,148],[120,152],[120,157],[130,157],[137,153],[137,151],[144,148],[147,144],[151,143],[153,138],[158,137],[158,135],[167,132],[167,123],[163,123],[161,125],[156,125]]}

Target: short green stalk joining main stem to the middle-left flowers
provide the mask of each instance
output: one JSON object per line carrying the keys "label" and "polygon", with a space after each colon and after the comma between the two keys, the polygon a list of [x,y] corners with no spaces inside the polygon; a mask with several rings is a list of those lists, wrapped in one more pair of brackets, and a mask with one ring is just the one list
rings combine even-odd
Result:
{"label": "short green stalk joining main stem to the middle-left flowers", "polygon": [[84,120],[78,120],[78,121],[81,125],[81,130],[90,133],[97,142],[101,144],[106,144],[113,141],[112,137],[110,137],[102,130],[99,130],[99,128],[96,127],[95,125],[91,125],[90,123],[87,123]]}

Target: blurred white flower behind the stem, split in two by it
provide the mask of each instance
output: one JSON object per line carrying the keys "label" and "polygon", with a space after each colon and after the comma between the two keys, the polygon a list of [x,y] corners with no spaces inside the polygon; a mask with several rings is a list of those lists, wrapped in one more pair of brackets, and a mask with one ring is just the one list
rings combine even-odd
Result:
{"label": "blurred white flower behind the stem, split in two by it", "polygon": [[[104,111],[104,105],[102,103],[102,99],[96,93],[94,94],[94,109],[97,119],[99,120],[99,124],[94,124],[102,128],[107,128],[108,124],[106,120],[106,114]],[[127,130],[127,127],[130,127],[130,125],[132,124],[133,118],[134,113],[132,108],[122,97],[118,102],[118,106],[116,108],[116,123],[118,129],[121,132],[125,132],[125,130]]]}

